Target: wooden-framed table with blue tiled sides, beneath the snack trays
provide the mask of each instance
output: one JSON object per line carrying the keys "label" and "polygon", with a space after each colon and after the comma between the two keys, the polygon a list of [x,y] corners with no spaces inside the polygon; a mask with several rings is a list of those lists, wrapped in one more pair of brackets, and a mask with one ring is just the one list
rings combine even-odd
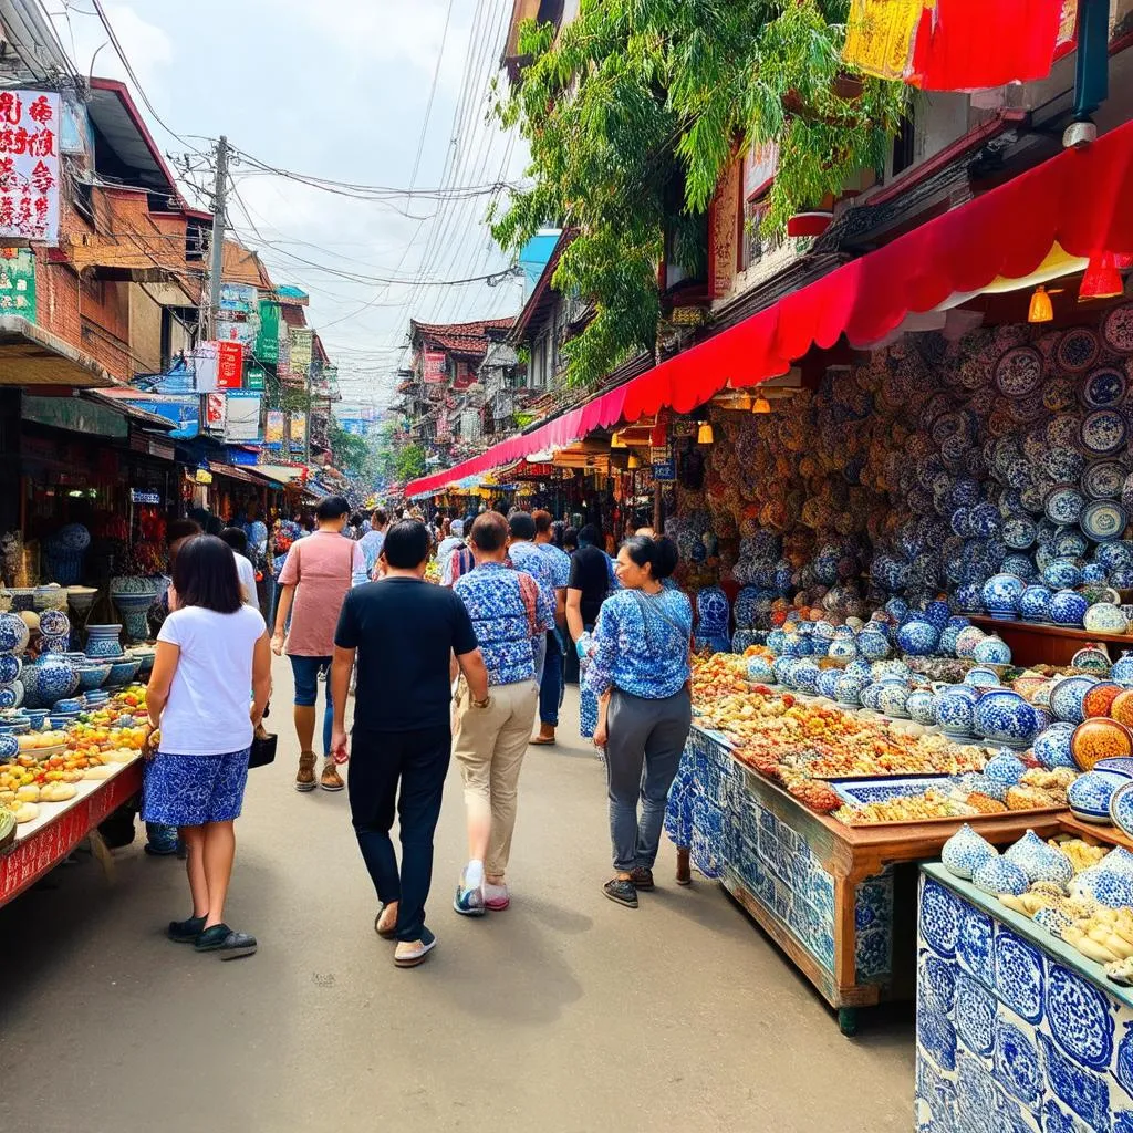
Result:
{"label": "wooden-framed table with blue tiled sides, beneath the snack trays", "polygon": [[[844,826],[739,763],[724,736],[693,725],[670,796],[668,833],[692,864],[719,879],[852,1033],[857,1008],[894,994],[894,942],[908,938],[912,951],[912,886],[904,902],[895,896],[894,864],[939,857],[961,821]],[[1005,845],[1028,826],[1054,833],[1058,820],[1008,813],[972,825]]]}

